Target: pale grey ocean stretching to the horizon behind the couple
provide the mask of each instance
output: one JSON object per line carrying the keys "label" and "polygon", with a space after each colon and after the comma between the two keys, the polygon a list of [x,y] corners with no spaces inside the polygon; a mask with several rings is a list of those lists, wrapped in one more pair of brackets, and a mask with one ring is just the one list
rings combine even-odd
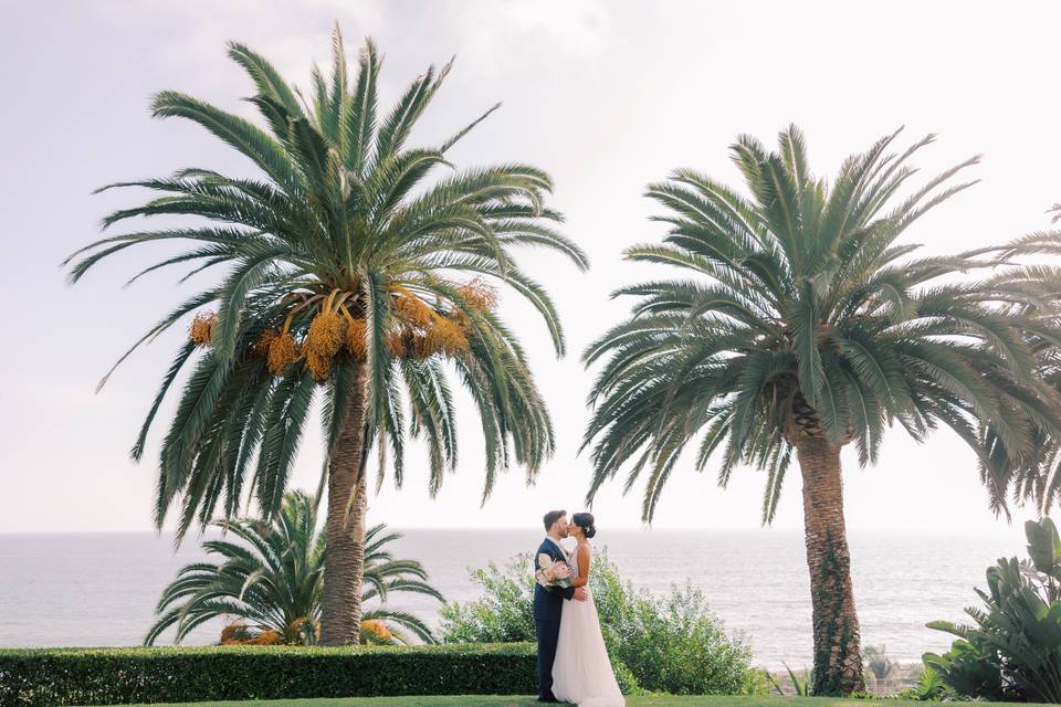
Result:
{"label": "pale grey ocean stretching to the horizon behind the couple", "polygon": [[[469,569],[534,550],[540,534],[512,529],[411,529],[398,557],[422,561],[450,601],[475,599]],[[810,589],[802,536],[782,530],[613,530],[595,540],[624,579],[651,592],[686,582],[700,588],[726,629],[752,645],[757,664],[811,664]],[[1012,536],[935,537],[855,534],[850,538],[855,602],[864,645],[893,661],[916,662],[949,645],[925,622],[962,620],[975,585],[1002,556],[1023,556]],[[195,539],[174,552],[168,535],[0,535],[0,646],[137,645],[162,588],[183,564],[202,559]],[[397,598],[396,598],[397,599]],[[437,622],[437,603],[395,605]],[[217,626],[189,643],[217,640]]]}

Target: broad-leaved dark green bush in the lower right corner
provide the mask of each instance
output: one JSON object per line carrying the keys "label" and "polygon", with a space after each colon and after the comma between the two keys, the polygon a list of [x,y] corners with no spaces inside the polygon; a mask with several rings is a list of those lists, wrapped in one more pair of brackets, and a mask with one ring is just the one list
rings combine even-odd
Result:
{"label": "broad-leaved dark green bush in the lower right corner", "polygon": [[1061,538],[1049,518],[1025,524],[1031,560],[1002,558],[987,570],[974,625],[935,621],[958,636],[925,665],[959,695],[991,700],[1061,701]]}

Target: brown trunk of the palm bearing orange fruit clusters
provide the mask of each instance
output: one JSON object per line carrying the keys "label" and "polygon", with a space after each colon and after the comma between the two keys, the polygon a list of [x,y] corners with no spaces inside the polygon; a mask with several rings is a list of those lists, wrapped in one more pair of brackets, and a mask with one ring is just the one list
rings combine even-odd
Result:
{"label": "brown trunk of the palm bearing orange fruit clusters", "polygon": [[328,458],[327,546],[324,550],[323,645],[358,644],[361,639],[361,582],[368,494],[361,469],[365,436],[365,365],[354,380],[335,449]]}

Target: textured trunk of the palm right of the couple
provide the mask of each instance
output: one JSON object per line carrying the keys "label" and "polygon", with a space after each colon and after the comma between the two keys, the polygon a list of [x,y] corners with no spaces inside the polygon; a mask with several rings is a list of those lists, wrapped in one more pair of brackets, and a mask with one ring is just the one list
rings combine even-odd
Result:
{"label": "textured trunk of the palm right of the couple", "polygon": [[803,477],[803,532],[813,608],[813,694],[863,692],[859,618],[843,523],[840,446],[822,435],[800,434],[796,455]]}

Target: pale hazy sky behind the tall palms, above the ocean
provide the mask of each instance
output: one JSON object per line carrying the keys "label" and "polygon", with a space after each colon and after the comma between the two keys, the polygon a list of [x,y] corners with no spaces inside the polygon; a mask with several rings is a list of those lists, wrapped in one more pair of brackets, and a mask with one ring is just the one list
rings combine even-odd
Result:
{"label": "pale hazy sky behind the tall palms, above the ocean", "polygon": [[[558,257],[525,263],[554,294],[569,355],[556,360],[540,320],[511,298],[506,316],[527,344],[559,437],[554,461],[527,489],[522,471],[480,508],[481,440],[462,398],[461,463],[439,497],[426,490],[423,455],[406,487],[385,486],[374,521],[399,526],[537,527],[551,507],[579,509],[589,467],[576,456],[592,373],[578,354],[627,305],[608,294],[660,271],[621,258],[660,238],[644,186],[676,167],[737,184],[727,146],[742,133],[773,145],[790,122],[807,134],[811,163],[831,175],[847,155],[900,125],[905,141],[938,133],[920,165],[932,173],[983,152],[984,181],[923,219],[907,239],[945,253],[1049,226],[1061,200],[1058,28],[1054,3],[975,2],[0,2],[0,171],[4,265],[0,283],[0,531],[148,530],[155,443],[145,463],[127,450],[183,333],[141,350],[101,394],[99,376],[187,292],[177,274],[120,284],[158,251],[129,253],[74,288],[59,263],[98,234],[134,192],[92,197],[115,180],[181,167],[248,166],[190,124],[148,116],[151,94],[179,89],[244,112],[252,86],[225,56],[239,40],[306,84],[329,61],[337,20],[350,56],[365,35],[386,53],[384,99],[429,64],[456,64],[421,120],[430,143],[503,101],[452,157],[459,166],[508,160],[545,168],[566,232],[589,253],[580,275]],[[315,430],[314,430],[315,431]],[[970,452],[950,433],[916,445],[899,430],[881,463],[845,457],[848,524],[949,534],[1011,532],[987,509]],[[308,436],[295,483],[315,487],[319,437]],[[763,475],[717,488],[681,465],[655,527],[756,528]],[[607,486],[598,526],[638,527],[640,488]],[[1028,517],[1018,510],[1017,519]],[[790,475],[776,526],[801,527]]]}

